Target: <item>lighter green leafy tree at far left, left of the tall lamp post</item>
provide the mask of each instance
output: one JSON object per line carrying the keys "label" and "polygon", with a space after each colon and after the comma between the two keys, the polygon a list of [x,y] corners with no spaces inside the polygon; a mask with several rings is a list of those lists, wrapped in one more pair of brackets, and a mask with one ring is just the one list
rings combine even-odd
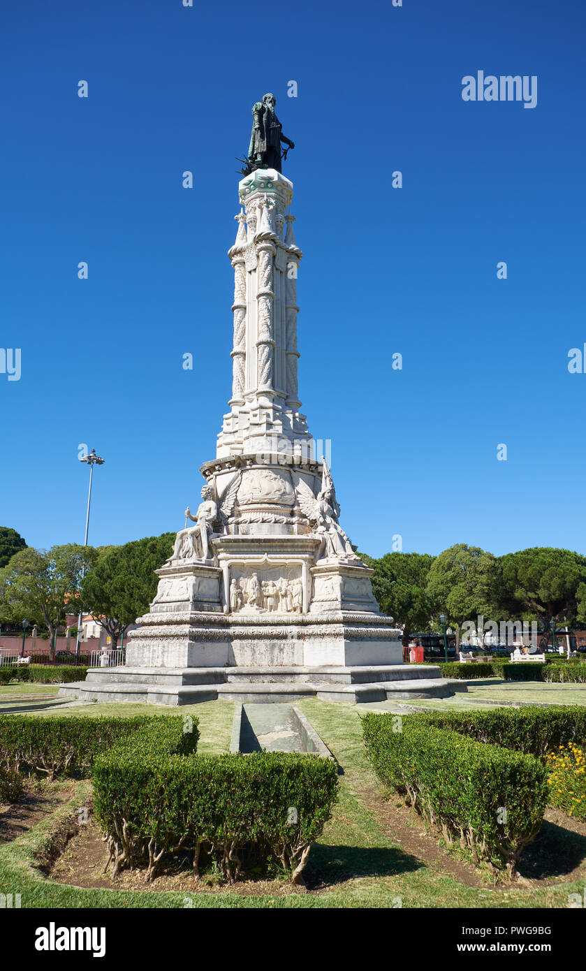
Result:
{"label": "lighter green leafy tree at far left, left of the tall lamp post", "polygon": [[49,633],[51,657],[57,629],[65,623],[80,589],[83,572],[95,560],[92,547],[76,543],[49,551],[27,547],[0,570],[0,614],[19,623],[26,618]]}

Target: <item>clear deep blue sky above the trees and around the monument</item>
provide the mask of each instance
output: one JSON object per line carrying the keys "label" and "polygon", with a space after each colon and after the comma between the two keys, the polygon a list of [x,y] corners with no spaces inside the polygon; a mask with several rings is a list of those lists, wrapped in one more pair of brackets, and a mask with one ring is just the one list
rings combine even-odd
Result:
{"label": "clear deep blue sky above the trees and around the monument", "polygon": [[[87,443],[90,543],[182,526],[230,396],[235,156],[273,91],[303,411],[352,541],[586,552],[585,26],[582,0],[5,8],[0,523],[82,542]],[[537,75],[537,108],[465,103],[478,70]]]}

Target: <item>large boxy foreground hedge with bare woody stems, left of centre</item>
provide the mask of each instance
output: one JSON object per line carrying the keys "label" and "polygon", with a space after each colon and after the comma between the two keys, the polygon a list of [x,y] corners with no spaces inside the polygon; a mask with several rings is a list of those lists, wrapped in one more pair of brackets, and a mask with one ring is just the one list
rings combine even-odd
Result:
{"label": "large boxy foreground hedge with bare woody stems, left of centre", "polygon": [[[194,755],[176,720],[152,726],[93,767],[95,808],[114,876],[188,851],[196,879],[219,869],[230,883],[278,867],[298,882],[336,801],[335,763],[319,755]],[[175,722],[175,723],[174,723]]]}

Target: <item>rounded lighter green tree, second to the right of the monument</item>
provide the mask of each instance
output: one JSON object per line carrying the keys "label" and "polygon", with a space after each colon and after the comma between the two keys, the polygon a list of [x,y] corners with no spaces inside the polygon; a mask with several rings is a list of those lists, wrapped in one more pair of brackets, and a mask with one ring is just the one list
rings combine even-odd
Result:
{"label": "rounded lighter green tree, second to the right of the monument", "polygon": [[500,582],[499,562],[492,552],[457,543],[432,564],[427,592],[436,616],[445,614],[455,628],[456,651],[462,625],[496,609]]}

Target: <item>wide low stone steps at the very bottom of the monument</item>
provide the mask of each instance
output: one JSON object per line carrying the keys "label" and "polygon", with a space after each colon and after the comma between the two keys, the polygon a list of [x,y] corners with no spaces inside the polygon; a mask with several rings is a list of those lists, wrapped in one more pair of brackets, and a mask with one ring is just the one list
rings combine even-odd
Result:
{"label": "wide low stone steps at the very bottom of the monument", "polygon": [[91,668],[87,680],[60,686],[59,696],[86,701],[193,705],[224,699],[289,702],[318,697],[348,704],[453,693],[434,665],[265,668]]}

